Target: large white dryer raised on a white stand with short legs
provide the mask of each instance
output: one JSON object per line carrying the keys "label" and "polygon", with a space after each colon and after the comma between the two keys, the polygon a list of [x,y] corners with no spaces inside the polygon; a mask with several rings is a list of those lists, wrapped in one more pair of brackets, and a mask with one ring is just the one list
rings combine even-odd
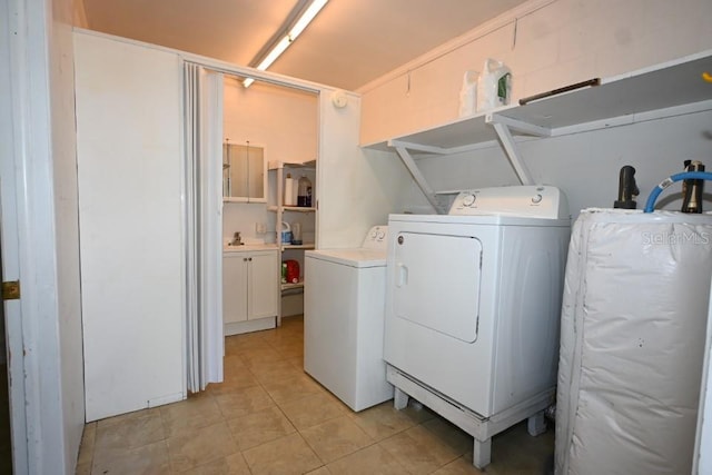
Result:
{"label": "large white dryer raised on a white stand with short legs", "polygon": [[554,187],[461,192],[448,215],[390,215],[384,357],[408,396],[475,438],[520,420],[543,431],[553,402],[571,219]]}

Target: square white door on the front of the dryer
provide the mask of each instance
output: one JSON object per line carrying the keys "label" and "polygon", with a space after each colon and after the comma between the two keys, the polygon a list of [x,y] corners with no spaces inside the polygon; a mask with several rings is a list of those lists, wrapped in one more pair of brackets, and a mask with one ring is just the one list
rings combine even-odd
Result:
{"label": "square white door on the front of the dryer", "polygon": [[469,236],[399,232],[394,310],[466,343],[477,339],[482,243]]}

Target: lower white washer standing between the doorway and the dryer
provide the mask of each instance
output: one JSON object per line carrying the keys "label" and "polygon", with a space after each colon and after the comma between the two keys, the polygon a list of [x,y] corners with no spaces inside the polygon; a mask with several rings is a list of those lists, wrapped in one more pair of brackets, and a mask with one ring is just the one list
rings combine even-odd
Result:
{"label": "lower white washer standing between the doorway and the dryer", "polygon": [[304,370],[354,410],[393,398],[383,360],[387,227],[305,253]]}

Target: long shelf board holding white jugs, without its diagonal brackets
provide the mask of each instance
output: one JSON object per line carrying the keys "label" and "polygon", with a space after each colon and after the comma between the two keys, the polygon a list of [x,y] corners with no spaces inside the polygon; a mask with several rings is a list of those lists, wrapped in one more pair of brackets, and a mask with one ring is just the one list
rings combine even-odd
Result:
{"label": "long shelf board holding white jugs, without its diagonal brackets", "polygon": [[[712,50],[642,69],[627,75],[601,80],[601,86],[577,89],[526,103],[506,106],[488,113],[456,119],[436,127],[405,136],[394,137],[364,148],[393,151],[392,142],[407,144],[414,151],[456,152],[463,147],[497,139],[487,118],[516,120],[548,130],[557,130],[585,123],[610,121],[654,110],[686,107],[709,110],[712,108],[712,86],[702,80],[702,72],[712,72]],[[601,127],[604,125],[600,123]],[[518,132],[522,136],[534,133]]]}

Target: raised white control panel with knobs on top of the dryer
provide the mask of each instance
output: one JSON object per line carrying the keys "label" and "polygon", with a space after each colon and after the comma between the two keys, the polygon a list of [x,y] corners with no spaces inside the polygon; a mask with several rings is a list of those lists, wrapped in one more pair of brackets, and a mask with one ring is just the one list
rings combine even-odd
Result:
{"label": "raised white control panel with knobs on top of the dryer", "polygon": [[448,214],[565,219],[568,218],[568,204],[564,194],[552,186],[493,187],[461,191]]}

